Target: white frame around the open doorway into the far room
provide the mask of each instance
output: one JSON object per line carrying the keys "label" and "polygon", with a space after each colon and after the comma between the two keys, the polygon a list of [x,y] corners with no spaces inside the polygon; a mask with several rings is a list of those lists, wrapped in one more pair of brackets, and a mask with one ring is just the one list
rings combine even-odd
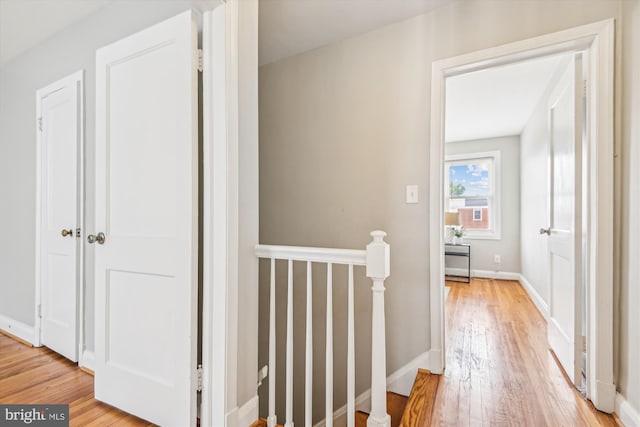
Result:
{"label": "white frame around the open doorway into the far room", "polygon": [[430,368],[445,367],[444,114],[445,79],[458,74],[561,52],[589,51],[587,187],[587,397],[613,412],[614,20],[456,56],[432,65],[430,139]]}

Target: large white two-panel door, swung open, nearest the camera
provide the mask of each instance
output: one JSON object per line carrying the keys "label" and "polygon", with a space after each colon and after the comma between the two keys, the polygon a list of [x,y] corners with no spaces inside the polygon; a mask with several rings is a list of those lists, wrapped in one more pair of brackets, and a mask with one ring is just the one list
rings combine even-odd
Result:
{"label": "large white two-panel door, swung open, nearest the camera", "polygon": [[96,54],[95,396],[164,426],[196,422],[195,22]]}

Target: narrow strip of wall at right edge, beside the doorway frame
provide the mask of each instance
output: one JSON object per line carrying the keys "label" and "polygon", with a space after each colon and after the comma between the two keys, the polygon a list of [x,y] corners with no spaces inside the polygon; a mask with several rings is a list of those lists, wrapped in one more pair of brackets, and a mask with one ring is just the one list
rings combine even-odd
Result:
{"label": "narrow strip of wall at right edge, beside the doorway frame", "polygon": [[616,294],[619,318],[615,319],[618,351],[614,360],[618,389],[640,412],[640,1],[623,1],[622,7],[622,88],[617,105],[622,138],[616,150],[621,172],[616,208],[622,239],[616,253],[620,290]]}

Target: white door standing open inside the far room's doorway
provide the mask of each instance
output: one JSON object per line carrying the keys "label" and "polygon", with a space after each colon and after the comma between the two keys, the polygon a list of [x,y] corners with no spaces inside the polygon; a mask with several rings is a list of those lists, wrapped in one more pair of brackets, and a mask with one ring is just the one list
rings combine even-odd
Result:
{"label": "white door standing open inside the far room's doorway", "polygon": [[549,346],[582,384],[582,61],[577,54],[549,105]]}

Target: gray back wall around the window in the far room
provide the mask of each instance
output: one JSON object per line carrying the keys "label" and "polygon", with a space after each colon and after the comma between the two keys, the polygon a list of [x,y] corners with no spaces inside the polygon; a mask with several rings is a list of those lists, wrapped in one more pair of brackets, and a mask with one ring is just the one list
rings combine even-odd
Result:
{"label": "gray back wall around the window in the far room", "polygon": [[[501,238],[464,237],[471,244],[471,269],[520,273],[520,138],[506,136],[445,144],[445,156],[484,151],[500,152]],[[494,255],[500,255],[500,264],[494,263]]]}

